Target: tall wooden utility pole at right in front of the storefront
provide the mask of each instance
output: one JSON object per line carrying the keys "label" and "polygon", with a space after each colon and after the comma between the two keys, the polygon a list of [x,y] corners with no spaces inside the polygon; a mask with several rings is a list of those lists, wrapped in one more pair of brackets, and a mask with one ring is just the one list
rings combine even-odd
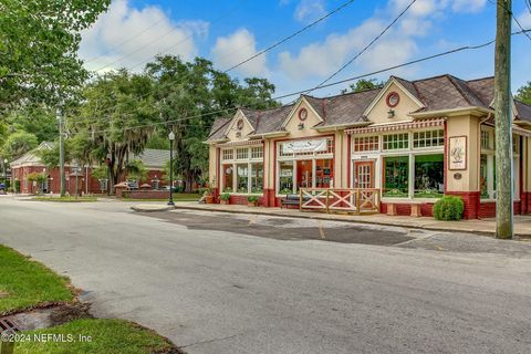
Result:
{"label": "tall wooden utility pole at right in front of the storefront", "polygon": [[511,18],[512,0],[497,0],[496,106],[496,237],[513,237]]}

